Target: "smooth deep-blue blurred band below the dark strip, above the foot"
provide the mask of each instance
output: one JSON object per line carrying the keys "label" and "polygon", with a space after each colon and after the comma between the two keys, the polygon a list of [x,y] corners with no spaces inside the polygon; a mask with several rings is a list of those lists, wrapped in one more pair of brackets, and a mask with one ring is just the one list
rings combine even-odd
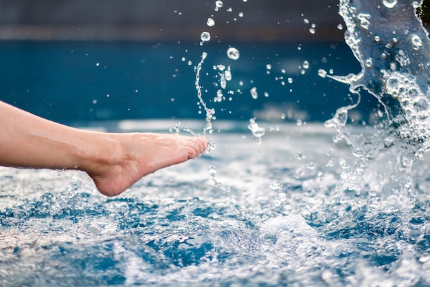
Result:
{"label": "smooth deep-blue blurred band below the dark strip, above the foot", "polygon": [[[237,61],[227,58],[230,45],[240,50]],[[213,66],[231,65],[233,77],[225,95],[234,91],[229,95],[232,99],[214,104],[216,116],[225,120],[248,120],[254,111],[275,106],[284,113],[302,111],[306,113],[303,120],[324,121],[339,104],[348,105],[350,98],[346,85],[321,78],[317,71],[324,68],[348,74],[360,70],[345,43],[245,42],[201,47],[199,43],[175,42],[12,41],[0,43],[0,99],[68,124],[124,118],[201,118],[194,66],[202,51],[208,54],[201,80],[208,103],[219,88],[214,87],[219,76]],[[304,61],[310,67],[303,75],[299,66]],[[272,66],[270,74],[267,64]],[[288,78],[293,83],[288,83]],[[249,93],[252,87],[258,88],[257,100]],[[376,100],[368,97],[363,103],[358,110],[367,119]]]}

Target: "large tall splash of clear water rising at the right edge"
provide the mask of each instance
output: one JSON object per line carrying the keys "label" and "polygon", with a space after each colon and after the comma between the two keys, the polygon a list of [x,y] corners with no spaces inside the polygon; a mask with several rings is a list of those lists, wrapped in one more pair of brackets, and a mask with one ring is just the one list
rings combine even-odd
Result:
{"label": "large tall splash of clear water rising at the right edge", "polygon": [[430,41],[416,14],[422,1],[382,2],[340,0],[345,41],[361,63],[361,72],[347,76],[321,72],[320,76],[347,83],[358,96],[363,90],[369,92],[385,110],[385,118],[367,136],[348,131],[348,111],[359,105],[360,96],[326,122],[354,151],[360,151],[343,164],[341,177],[348,179],[343,188],[396,197],[401,206],[411,196],[411,165],[430,147]]}

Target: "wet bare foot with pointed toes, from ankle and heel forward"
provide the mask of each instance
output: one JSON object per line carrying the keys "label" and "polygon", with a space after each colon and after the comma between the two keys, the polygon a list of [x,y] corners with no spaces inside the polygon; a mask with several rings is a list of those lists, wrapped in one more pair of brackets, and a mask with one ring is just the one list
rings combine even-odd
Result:
{"label": "wet bare foot with pointed toes, from ankle and heel forward", "polygon": [[106,134],[104,145],[83,170],[100,193],[115,196],[163,167],[196,158],[207,150],[203,137],[177,134]]}

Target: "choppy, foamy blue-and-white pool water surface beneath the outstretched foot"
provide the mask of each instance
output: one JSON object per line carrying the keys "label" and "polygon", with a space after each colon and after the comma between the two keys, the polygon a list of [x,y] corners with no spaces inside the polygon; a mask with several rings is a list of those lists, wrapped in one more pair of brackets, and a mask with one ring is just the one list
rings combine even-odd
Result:
{"label": "choppy, foamy blue-and-white pool water surface beneath the outstretched foot", "polygon": [[1,286],[430,284],[426,161],[414,172],[416,202],[381,210],[375,195],[339,189],[339,158],[352,148],[334,145],[332,129],[260,123],[258,144],[247,123],[218,125],[210,154],[117,198],[78,171],[1,169]]}

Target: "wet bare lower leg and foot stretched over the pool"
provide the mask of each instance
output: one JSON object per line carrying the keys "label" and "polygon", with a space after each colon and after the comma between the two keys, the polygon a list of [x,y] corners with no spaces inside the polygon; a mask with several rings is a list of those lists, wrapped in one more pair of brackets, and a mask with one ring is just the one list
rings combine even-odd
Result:
{"label": "wet bare lower leg and foot stretched over the pool", "polygon": [[115,196],[163,167],[207,150],[204,137],[103,133],[67,127],[0,102],[0,165],[76,169],[100,193]]}

